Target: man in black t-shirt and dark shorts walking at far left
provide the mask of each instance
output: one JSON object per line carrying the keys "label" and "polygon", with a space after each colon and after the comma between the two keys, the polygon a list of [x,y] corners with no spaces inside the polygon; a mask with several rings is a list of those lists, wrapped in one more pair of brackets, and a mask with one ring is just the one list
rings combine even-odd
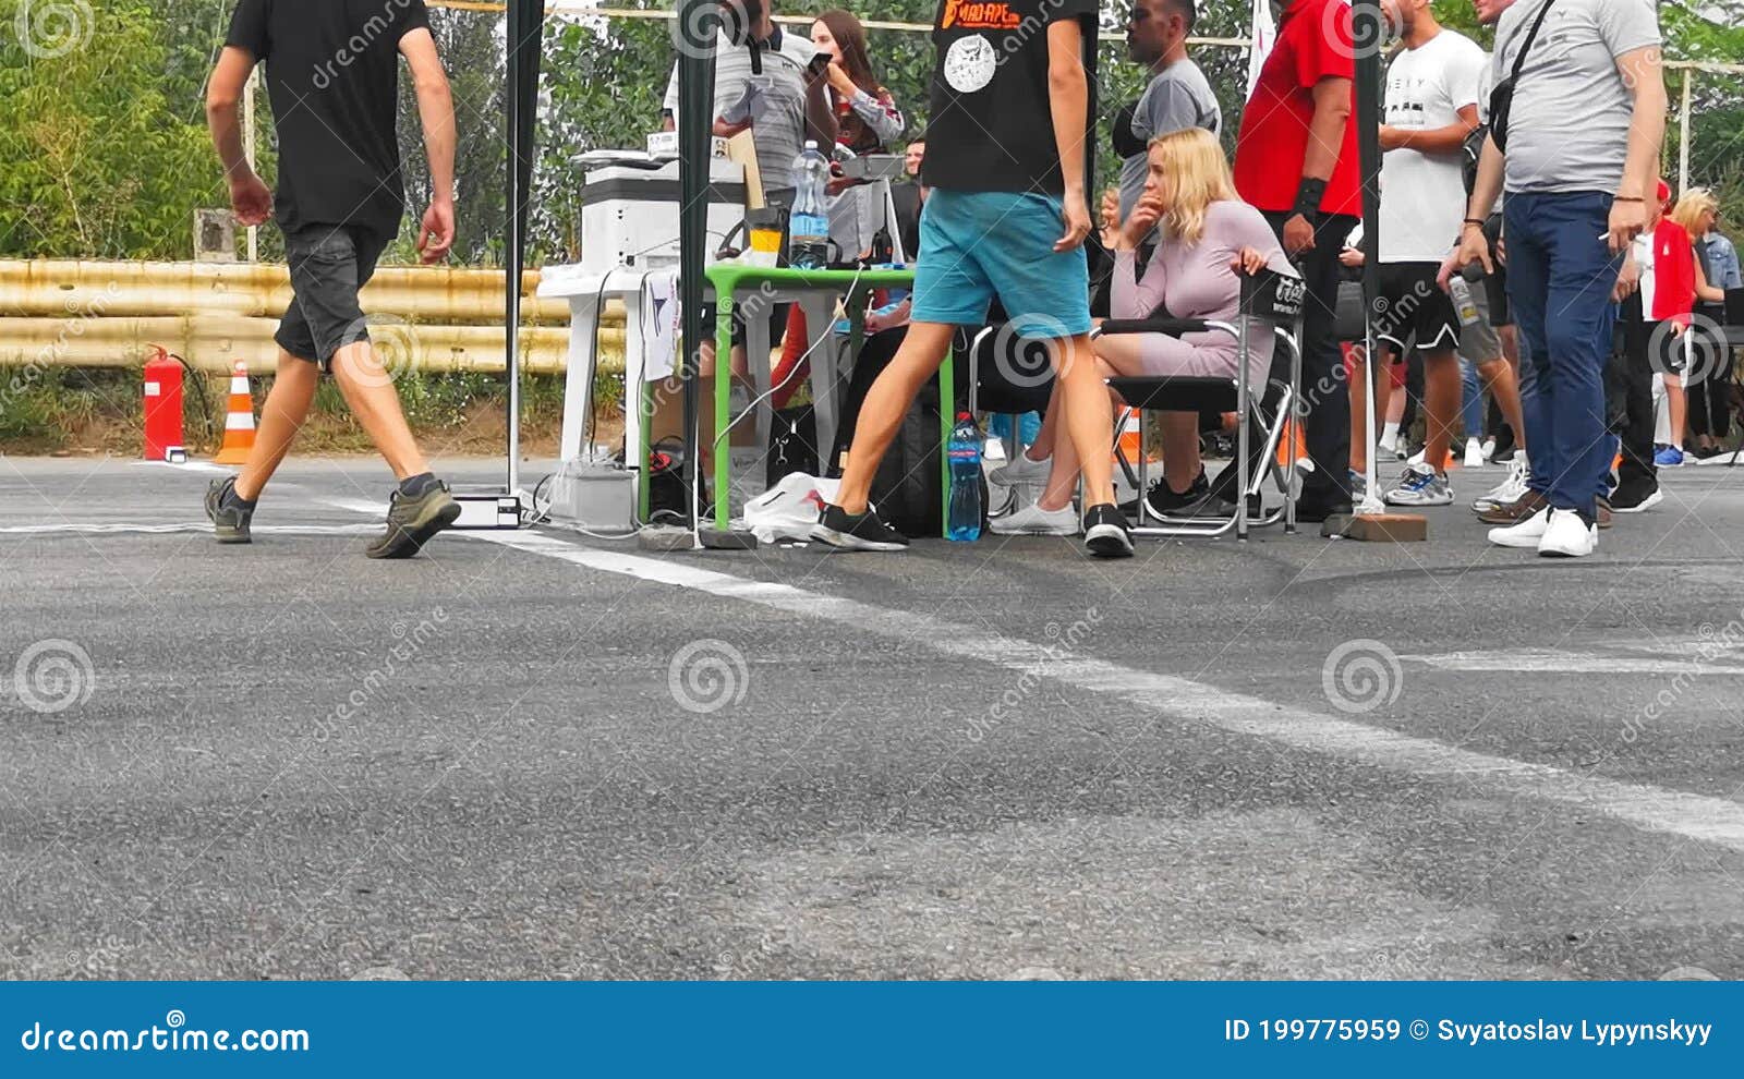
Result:
{"label": "man in black t-shirt and dark shorts walking at far left", "polygon": [[[410,558],[460,516],[412,439],[394,371],[370,345],[358,307],[358,289],[405,214],[394,134],[401,54],[417,85],[431,164],[434,197],[419,227],[429,265],[453,246],[455,124],[424,0],[241,0],[230,17],[206,115],[237,220],[260,225],[276,211],[293,296],[274,335],[277,377],[255,448],[237,476],[213,481],[206,493],[218,542],[249,542],[255,500],[307,418],[321,371],[331,371],[399,479],[387,532],[368,546],[370,558]],[[260,63],[279,136],[276,197],[248,166],[237,120],[242,87]]]}

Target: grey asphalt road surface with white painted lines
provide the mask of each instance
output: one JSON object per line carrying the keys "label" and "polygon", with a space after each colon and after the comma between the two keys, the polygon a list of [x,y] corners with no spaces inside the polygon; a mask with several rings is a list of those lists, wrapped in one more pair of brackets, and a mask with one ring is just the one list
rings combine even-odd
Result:
{"label": "grey asphalt road surface with white painted lines", "polygon": [[1744,976],[1744,471],[1577,563],[382,565],[378,464],[208,478],[0,458],[0,976]]}

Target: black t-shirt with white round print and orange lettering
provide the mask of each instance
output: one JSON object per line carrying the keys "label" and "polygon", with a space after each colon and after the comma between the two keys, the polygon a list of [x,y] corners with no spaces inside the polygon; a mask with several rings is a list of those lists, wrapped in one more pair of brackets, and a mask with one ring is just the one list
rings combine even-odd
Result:
{"label": "black t-shirt with white round print and orange lettering", "polygon": [[1048,106],[1048,24],[1059,19],[1078,19],[1085,52],[1095,49],[1095,0],[942,0],[921,166],[930,187],[1066,190]]}

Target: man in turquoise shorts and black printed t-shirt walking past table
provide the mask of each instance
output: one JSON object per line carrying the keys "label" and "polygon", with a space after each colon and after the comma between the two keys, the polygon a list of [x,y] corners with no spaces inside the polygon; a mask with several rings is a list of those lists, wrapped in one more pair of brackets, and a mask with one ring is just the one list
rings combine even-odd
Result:
{"label": "man in turquoise shorts and black printed t-shirt walking past table", "polygon": [[982,326],[998,296],[1018,335],[1050,342],[1069,436],[1059,439],[1053,464],[1060,476],[1083,469],[1083,523],[1067,506],[1050,533],[1076,535],[1081,526],[1092,554],[1132,554],[1114,506],[1113,413],[1090,352],[1083,251],[1085,56],[1095,47],[1095,21],[1093,0],[938,5],[912,322],[860,408],[837,502],[823,507],[813,539],[855,551],[907,546],[867,504],[872,476],[952,331]]}

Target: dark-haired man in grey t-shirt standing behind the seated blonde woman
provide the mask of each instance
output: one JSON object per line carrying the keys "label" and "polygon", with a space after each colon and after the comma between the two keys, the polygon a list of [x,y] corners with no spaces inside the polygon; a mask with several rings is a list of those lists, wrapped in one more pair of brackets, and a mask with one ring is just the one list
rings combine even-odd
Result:
{"label": "dark-haired man in grey t-shirt standing behind the seated blonde woman", "polygon": [[1188,59],[1188,35],[1198,21],[1195,0],[1134,0],[1127,23],[1127,54],[1151,68],[1151,82],[1139,101],[1114,117],[1114,150],[1120,164],[1120,216],[1125,218],[1144,193],[1146,146],[1160,134],[1182,127],[1223,132],[1217,94],[1198,64]]}

